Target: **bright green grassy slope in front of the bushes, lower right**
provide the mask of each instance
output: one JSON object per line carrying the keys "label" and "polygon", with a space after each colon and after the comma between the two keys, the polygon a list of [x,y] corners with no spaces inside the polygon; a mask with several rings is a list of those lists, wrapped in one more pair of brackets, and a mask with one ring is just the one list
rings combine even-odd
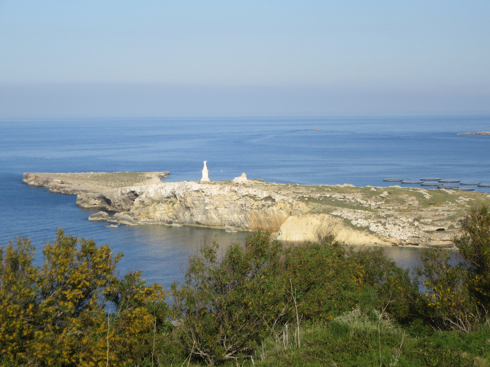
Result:
{"label": "bright green grassy slope in front of the bushes, lower right", "polygon": [[356,309],[332,321],[304,323],[301,347],[290,330],[287,343],[267,339],[252,355],[253,362],[237,359],[224,366],[490,366],[488,326],[468,334],[419,333],[383,318],[378,333],[378,321],[378,314]]}

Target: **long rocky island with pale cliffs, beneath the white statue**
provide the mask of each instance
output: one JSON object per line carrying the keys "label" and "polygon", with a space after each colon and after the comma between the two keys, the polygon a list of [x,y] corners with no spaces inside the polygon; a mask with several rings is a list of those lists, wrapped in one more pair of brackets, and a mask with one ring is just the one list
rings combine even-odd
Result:
{"label": "long rocky island with pale cliffs, beneath the white statue", "polygon": [[[169,172],[25,173],[29,185],[76,194],[91,220],[127,225],[265,229],[283,241],[333,229],[351,245],[447,246],[458,219],[490,195],[444,189],[274,184],[256,180],[162,182]],[[95,211],[95,210],[94,210]]]}

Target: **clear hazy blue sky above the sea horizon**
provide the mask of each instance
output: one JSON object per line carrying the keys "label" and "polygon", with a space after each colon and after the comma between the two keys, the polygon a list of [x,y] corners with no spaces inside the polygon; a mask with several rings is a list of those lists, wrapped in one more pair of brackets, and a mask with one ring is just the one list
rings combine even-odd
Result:
{"label": "clear hazy blue sky above the sea horizon", "polygon": [[0,117],[489,113],[490,1],[0,0]]}

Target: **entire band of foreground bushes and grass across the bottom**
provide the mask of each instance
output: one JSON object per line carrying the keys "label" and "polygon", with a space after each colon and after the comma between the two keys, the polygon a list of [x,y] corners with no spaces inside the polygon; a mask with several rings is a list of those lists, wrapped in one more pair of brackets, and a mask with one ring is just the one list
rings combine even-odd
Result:
{"label": "entire band of foreground bushes and grass across the bottom", "polygon": [[412,277],[382,249],[354,252],[325,233],[284,247],[256,231],[220,259],[207,243],[172,285],[171,308],[169,293],[140,273],[118,277],[121,255],[105,245],[60,230],[37,268],[29,241],[9,244],[0,252],[0,364],[489,362],[486,207],[455,238],[466,263],[424,250]]}

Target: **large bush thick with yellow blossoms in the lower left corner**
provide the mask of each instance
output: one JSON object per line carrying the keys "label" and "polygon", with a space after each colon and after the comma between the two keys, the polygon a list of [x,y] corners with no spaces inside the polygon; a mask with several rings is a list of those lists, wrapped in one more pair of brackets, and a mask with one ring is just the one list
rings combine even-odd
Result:
{"label": "large bush thick with yellow blossoms in the lower left corner", "polygon": [[33,254],[26,239],[0,249],[0,365],[124,366],[162,349],[167,293],[138,272],[118,278],[122,253],[59,229],[42,268]]}

